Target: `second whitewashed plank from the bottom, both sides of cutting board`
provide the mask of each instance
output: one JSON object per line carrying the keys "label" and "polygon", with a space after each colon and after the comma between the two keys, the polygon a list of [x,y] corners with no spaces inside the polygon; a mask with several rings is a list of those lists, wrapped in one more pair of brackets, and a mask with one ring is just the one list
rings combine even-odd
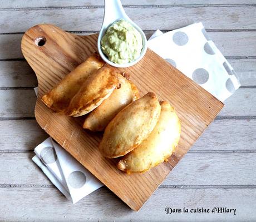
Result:
{"label": "second whitewashed plank from the bottom, both sides of cutting board", "polygon": [[[31,161],[34,152],[3,153],[0,156],[0,186],[54,186]],[[256,152],[188,152],[160,188],[253,186],[256,184],[255,161]]]}

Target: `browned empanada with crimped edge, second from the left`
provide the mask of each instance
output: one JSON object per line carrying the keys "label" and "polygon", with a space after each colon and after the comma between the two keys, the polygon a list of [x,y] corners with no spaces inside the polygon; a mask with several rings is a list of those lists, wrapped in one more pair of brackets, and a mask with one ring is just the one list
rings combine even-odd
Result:
{"label": "browned empanada with crimped edge, second from the left", "polygon": [[65,114],[82,116],[100,106],[119,87],[118,75],[119,72],[108,64],[92,73],[70,101]]}

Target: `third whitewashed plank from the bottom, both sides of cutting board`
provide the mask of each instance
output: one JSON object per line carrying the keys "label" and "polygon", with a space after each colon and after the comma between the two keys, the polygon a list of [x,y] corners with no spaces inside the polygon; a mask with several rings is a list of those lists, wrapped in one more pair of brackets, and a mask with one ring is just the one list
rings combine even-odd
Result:
{"label": "third whitewashed plank from the bottom, both sides of cutting board", "polygon": [[[253,119],[214,120],[189,152],[255,151],[255,129],[256,120]],[[48,137],[36,120],[2,120],[0,133],[0,153],[33,151]]]}

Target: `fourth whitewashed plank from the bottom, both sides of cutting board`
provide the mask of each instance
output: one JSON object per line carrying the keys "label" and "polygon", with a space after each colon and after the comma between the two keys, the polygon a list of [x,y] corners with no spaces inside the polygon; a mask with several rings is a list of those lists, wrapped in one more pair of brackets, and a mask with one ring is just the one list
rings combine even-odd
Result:
{"label": "fourth whitewashed plank from the bottom, both sides of cutting board", "polygon": [[[246,78],[246,77],[245,77]],[[254,78],[254,77],[252,77]],[[225,106],[220,112],[222,117],[256,116],[256,88],[239,88],[234,96],[225,100]],[[35,117],[34,108],[36,95],[33,88],[9,88],[0,90],[4,104],[0,104],[0,114],[4,118]]]}

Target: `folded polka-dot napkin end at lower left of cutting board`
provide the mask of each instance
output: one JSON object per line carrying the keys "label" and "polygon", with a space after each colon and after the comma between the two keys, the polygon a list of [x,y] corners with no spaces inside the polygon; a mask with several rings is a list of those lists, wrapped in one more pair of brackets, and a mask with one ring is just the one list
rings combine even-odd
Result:
{"label": "folded polka-dot napkin end at lower left of cutting board", "polygon": [[[37,95],[37,88],[35,88]],[[35,148],[32,160],[52,183],[75,204],[103,184],[51,137]]]}

